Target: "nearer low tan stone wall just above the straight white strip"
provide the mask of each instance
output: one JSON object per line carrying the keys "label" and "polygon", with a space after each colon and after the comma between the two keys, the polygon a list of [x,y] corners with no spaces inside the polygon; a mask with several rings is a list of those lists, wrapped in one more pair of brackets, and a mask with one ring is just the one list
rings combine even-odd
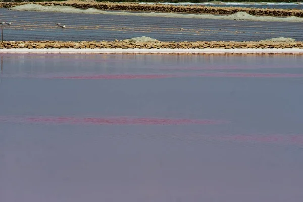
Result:
{"label": "nearer low tan stone wall just above the straight white strip", "polygon": [[132,42],[124,41],[81,41],[81,42],[64,42],[64,41],[4,41],[0,42],[0,49],[5,48],[28,48],[28,49],[43,49],[43,48],[76,48],[76,49],[98,49],[98,48],[139,48],[139,49],[203,49],[203,48],[303,48],[303,42]]}

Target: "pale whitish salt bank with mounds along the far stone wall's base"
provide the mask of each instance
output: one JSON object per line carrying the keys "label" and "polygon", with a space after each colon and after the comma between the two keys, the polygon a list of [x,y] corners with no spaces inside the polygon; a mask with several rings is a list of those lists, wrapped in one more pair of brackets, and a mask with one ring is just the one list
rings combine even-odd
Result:
{"label": "pale whitish salt bank with mounds along the far stone wall's base", "polygon": [[62,12],[62,13],[86,13],[86,14],[106,14],[124,16],[144,16],[144,17],[167,17],[167,18],[197,18],[197,19],[218,19],[218,20],[254,20],[254,21],[275,21],[275,22],[303,22],[303,18],[291,17],[272,17],[272,16],[253,16],[246,12],[237,12],[231,15],[212,15],[212,14],[179,14],[179,13],[155,13],[141,12],[132,13],[125,11],[103,11],[93,8],[77,9],[69,6],[42,6],[38,4],[25,4],[10,8],[18,11],[39,11],[39,12]]}

